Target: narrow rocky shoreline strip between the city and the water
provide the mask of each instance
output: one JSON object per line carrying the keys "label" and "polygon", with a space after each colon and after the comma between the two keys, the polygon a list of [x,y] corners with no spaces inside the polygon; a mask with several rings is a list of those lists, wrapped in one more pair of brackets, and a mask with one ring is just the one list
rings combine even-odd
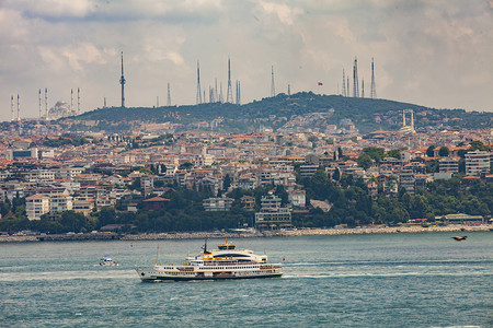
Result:
{"label": "narrow rocky shoreline strip between the city and the water", "polygon": [[35,236],[0,236],[0,243],[25,242],[81,242],[81,241],[162,241],[162,239],[205,239],[208,238],[254,238],[254,237],[299,237],[299,236],[337,236],[337,235],[369,235],[398,233],[444,233],[444,232],[486,232],[493,231],[493,224],[466,225],[454,224],[447,226],[369,226],[359,229],[305,229],[285,231],[264,231],[255,233],[153,233],[153,234],[77,234],[77,235],[35,235]]}

